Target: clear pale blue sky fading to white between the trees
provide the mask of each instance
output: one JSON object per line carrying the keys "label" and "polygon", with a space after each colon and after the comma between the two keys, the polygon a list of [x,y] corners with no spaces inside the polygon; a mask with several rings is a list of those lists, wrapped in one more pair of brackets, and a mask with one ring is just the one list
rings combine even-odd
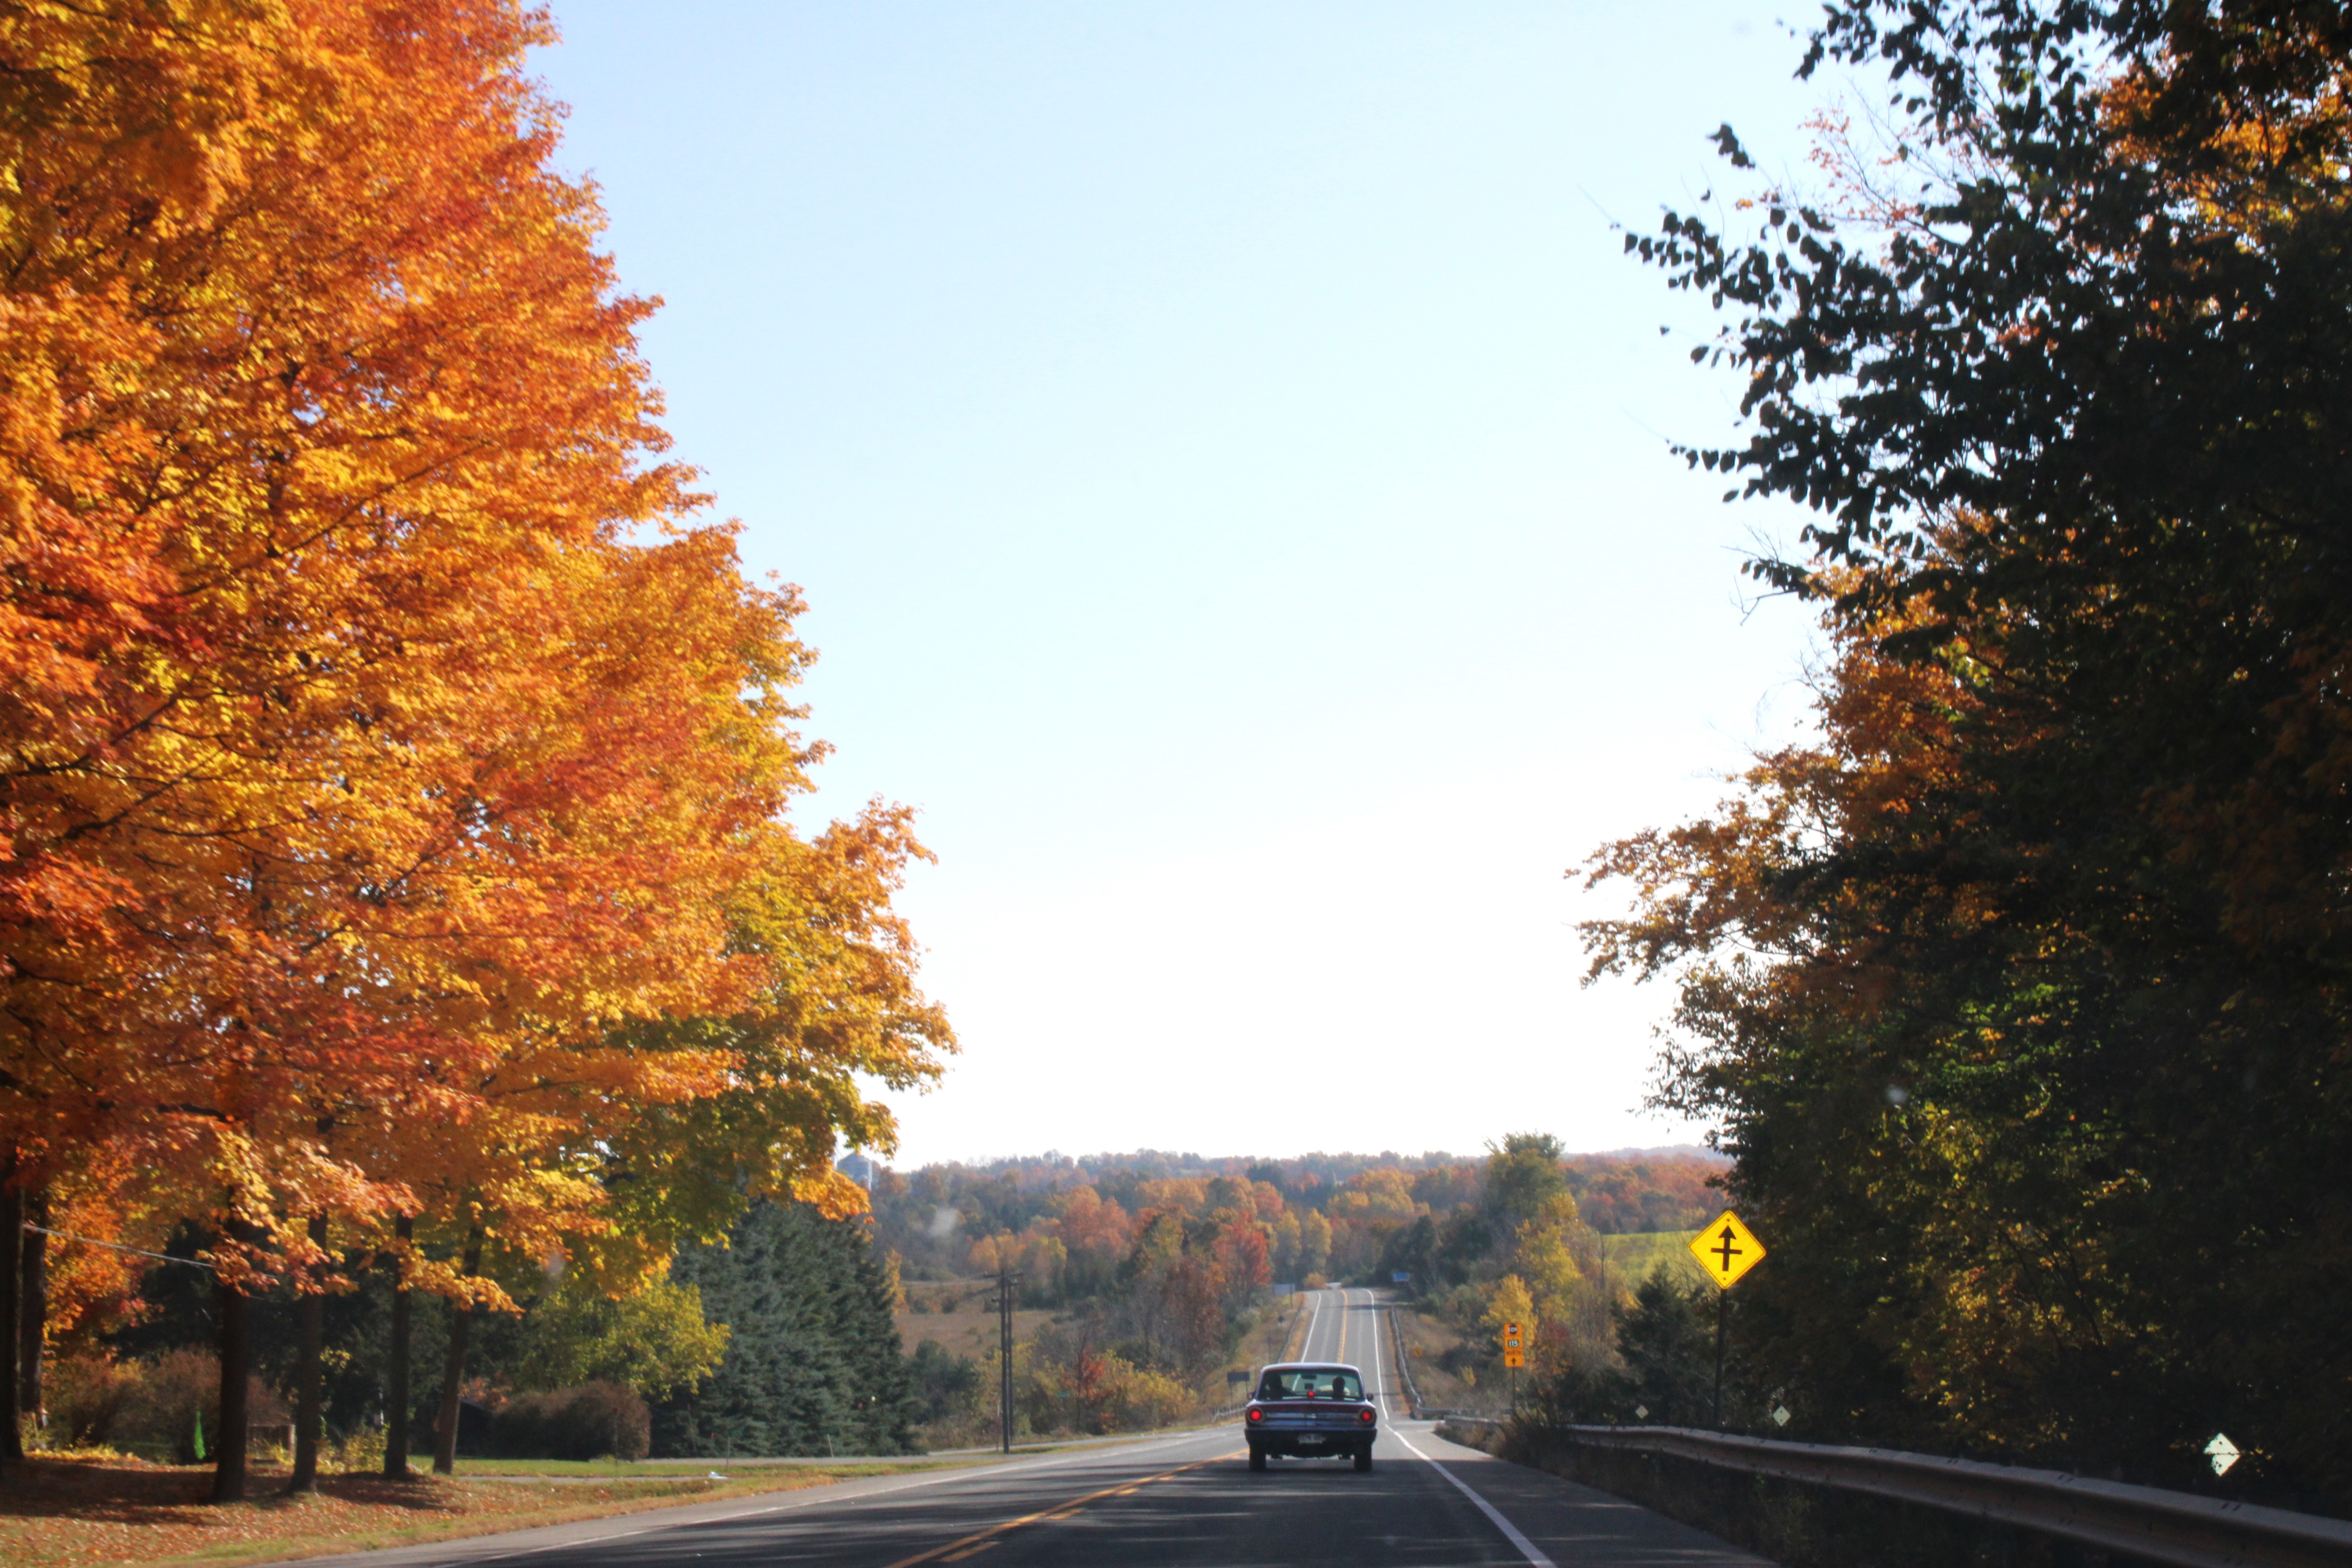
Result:
{"label": "clear pale blue sky fading to white between the trees", "polygon": [[809,597],[802,811],[941,856],[894,1164],[1696,1135],[1564,872],[1804,715],[1795,515],[1668,454],[1738,388],[1611,230],[1724,120],[1802,165],[1773,7],[555,12],[677,456]]}

